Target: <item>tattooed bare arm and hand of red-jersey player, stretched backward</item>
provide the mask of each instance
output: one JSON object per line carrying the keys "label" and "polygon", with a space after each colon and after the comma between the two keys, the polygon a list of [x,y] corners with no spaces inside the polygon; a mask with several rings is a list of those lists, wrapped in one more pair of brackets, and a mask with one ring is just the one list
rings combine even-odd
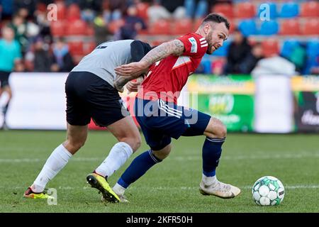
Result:
{"label": "tattooed bare arm and hand of red-jersey player, stretched backward", "polygon": [[148,67],[155,62],[162,60],[169,55],[182,55],[184,52],[184,44],[181,40],[172,40],[167,43],[162,43],[156,48],[150,50],[139,62],[132,62],[128,65],[116,67],[116,74],[124,77],[135,79],[147,72]]}

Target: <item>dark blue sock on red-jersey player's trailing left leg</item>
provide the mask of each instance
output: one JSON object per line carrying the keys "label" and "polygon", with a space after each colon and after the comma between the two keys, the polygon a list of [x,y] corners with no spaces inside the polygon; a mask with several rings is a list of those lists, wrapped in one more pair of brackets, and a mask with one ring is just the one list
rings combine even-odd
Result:
{"label": "dark blue sock on red-jersey player's trailing left leg", "polygon": [[130,163],[130,166],[125,170],[120,179],[118,179],[118,184],[126,189],[158,162],[162,162],[162,160],[155,157],[152,150],[145,151],[145,153],[138,155],[138,157],[135,157],[133,162]]}

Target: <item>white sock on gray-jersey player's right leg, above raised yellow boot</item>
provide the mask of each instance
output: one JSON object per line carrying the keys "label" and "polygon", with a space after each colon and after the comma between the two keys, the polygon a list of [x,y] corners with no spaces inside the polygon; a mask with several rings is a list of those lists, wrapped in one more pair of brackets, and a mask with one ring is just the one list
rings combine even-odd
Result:
{"label": "white sock on gray-jersey player's right leg, above raised yellow boot", "polygon": [[108,154],[108,157],[96,168],[95,172],[103,177],[110,177],[132,154],[133,150],[130,145],[124,142],[116,143]]}

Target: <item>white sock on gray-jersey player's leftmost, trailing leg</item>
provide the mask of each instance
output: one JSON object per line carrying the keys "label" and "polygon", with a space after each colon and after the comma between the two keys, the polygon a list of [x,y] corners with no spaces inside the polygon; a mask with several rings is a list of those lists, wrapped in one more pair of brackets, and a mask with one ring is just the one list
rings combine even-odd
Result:
{"label": "white sock on gray-jersey player's leftmost, trailing leg", "polygon": [[53,179],[60,170],[67,165],[69,158],[72,154],[61,144],[55,150],[53,150],[50,157],[45,162],[40,174],[33,182],[31,189],[33,192],[43,192],[45,185],[50,179]]}

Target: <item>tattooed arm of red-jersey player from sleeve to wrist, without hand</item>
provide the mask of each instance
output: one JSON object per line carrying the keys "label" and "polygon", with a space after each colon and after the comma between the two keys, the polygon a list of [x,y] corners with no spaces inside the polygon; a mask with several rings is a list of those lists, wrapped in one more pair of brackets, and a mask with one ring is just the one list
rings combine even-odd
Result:
{"label": "tattooed arm of red-jersey player from sleeve to wrist, without hand", "polygon": [[145,62],[145,64],[150,66],[169,55],[181,55],[183,52],[184,44],[181,40],[172,40],[167,43],[162,43],[156,48],[150,50],[150,52],[142,58],[141,62]]}

